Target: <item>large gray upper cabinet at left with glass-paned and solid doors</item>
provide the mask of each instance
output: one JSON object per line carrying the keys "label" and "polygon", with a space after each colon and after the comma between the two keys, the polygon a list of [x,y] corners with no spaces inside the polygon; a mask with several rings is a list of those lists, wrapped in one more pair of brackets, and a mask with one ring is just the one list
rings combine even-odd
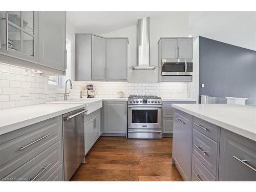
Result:
{"label": "large gray upper cabinet at left with glass-paned and solid doors", "polygon": [[0,60],[66,72],[66,11],[0,11]]}

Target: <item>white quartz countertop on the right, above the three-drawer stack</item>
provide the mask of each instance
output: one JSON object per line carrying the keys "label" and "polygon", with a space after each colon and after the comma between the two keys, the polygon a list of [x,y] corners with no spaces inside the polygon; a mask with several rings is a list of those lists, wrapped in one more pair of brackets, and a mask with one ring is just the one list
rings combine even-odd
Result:
{"label": "white quartz countertop on the right, above the three-drawer stack", "polygon": [[238,104],[172,104],[172,106],[256,141],[256,106]]}

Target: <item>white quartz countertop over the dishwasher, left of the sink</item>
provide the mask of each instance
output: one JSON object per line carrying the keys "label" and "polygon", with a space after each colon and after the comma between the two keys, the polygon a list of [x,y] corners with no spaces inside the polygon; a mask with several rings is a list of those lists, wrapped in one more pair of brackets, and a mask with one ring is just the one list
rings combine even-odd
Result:
{"label": "white quartz countertop over the dishwasher, left of the sink", "polygon": [[85,107],[86,104],[45,103],[0,110],[0,135]]}

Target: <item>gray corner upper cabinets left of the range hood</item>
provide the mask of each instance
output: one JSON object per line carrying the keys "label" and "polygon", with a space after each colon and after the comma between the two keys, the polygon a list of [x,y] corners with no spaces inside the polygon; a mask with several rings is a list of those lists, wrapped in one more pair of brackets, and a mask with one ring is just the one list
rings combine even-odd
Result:
{"label": "gray corner upper cabinets left of the range hood", "polygon": [[126,81],[127,38],[75,35],[76,81]]}

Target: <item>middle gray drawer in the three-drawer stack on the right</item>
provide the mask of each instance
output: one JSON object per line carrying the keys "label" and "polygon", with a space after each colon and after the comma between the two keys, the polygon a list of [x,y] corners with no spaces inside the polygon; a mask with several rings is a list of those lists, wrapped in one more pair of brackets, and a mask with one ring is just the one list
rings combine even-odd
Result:
{"label": "middle gray drawer in the three-drawer stack on the right", "polygon": [[216,176],[217,142],[193,129],[193,154]]}

